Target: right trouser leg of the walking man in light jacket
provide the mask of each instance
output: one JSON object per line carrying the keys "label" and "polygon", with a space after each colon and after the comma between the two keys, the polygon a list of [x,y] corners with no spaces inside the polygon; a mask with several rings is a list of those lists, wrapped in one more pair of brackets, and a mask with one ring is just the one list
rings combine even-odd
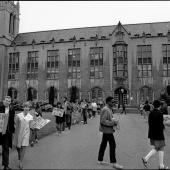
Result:
{"label": "right trouser leg of the walking man in light jacket", "polygon": [[116,142],[113,134],[109,134],[108,140],[110,145],[110,163],[116,163]]}

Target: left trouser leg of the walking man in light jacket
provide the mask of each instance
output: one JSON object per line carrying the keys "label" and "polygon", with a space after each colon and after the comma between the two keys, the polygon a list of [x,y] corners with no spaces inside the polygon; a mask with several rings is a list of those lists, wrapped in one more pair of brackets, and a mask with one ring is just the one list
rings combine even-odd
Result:
{"label": "left trouser leg of the walking man in light jacket", "polygon": [[107,134],[103,133],[102,141],[101,141],[99,153],[98,153],[98,161],[103,161],[106,146],[107,146]]}

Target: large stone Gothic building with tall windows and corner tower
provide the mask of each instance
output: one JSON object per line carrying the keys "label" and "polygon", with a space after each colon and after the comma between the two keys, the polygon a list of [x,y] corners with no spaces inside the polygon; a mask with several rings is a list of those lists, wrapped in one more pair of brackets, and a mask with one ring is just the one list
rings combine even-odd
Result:
{"label": "large stone Gothic building with tall windows and corner tower", "polygon": [[53,92],[138,105],[170,84],[170,22],[19,33],[19,8],[0,1],[0,100]]}

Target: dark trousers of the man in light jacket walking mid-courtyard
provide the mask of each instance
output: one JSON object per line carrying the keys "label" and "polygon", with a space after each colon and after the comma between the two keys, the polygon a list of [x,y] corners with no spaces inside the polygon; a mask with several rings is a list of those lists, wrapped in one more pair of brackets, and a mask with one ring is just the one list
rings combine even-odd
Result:
{"label": "dark trousers of the man in light jacket walking mid-courtyard", "polygon": [[100,144],[98,161],[103,161],[104,153],[106,150],[107,142],[110,145],[110,163],[116,163],[116,143],[113,134],[103,133],[102,142]]}

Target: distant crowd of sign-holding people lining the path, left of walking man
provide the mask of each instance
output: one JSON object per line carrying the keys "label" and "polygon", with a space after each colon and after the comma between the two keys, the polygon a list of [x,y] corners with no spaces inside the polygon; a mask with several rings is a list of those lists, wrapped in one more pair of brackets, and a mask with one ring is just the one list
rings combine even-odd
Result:
{"label": "distant crowd of sign-holding people lining the path, left of walking man", "polygon": [[[103,105],[104,103],[96,103],[95,100],[88,102],[85,99],[81,101],[76,100],[75,103],[71,103],[67,97],[64,97],[63,103],[57,102],[57,104],[54,105],[56,108],[63,109],[62,116],[55,116],[58,135],[60,135],[66,127],[70,130],[73,123],[79,124],[83,122],[83,124],[87,124],[88,119],[92,119],[100,113]],[[77,116],[74,120],[75,122],[72,122],[73,114]]]}

